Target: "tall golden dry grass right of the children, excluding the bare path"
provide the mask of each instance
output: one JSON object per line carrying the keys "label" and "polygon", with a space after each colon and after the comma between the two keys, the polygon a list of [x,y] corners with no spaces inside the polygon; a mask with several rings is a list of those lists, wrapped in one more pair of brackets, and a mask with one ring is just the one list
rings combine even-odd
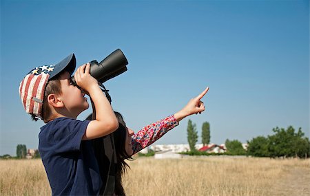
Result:
{"label": "tall golden dry grass right of the children, excluding the bare path", "polygon": [[274,182],[310,160],[247,157],[138,159],[124,185],[128,195],[272,195]]}

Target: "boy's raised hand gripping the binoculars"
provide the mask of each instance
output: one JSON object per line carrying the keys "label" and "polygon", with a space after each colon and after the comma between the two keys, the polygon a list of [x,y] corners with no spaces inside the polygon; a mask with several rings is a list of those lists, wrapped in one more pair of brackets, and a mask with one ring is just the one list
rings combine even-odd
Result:
{"label": "boy's raised hand gripping the binoculars", "polygon": [[98,81],[90,75],[90,63],[86,63],[81,65],[74,74],[74,79],[76,81],[76,85],[81,87],[85,91],[86,94],[92,87],[98,86]]}

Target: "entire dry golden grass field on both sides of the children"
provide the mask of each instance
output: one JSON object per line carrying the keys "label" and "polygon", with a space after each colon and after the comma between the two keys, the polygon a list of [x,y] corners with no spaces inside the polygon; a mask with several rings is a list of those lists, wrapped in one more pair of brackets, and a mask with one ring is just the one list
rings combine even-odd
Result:
{"label": "entire dry golden grass field on both sides of the children", "polygon": [[[310,195],[310,160],[183,157],[129,162],[127,195]],[[41,160],[0,160],[0,195],[51,195]]]}

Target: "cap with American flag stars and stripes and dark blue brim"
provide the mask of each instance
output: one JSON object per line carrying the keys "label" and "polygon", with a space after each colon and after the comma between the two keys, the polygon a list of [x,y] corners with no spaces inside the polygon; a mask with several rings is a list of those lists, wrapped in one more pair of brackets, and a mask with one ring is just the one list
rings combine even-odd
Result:
{"label": "cap with American flag stars and stripes and dark blue brim", "polygon": [[71,75],[75,66],[75,56],[70,54],[56,65],[43,65],[32,69],[19,84],[19,96],[25,111],[42,119],[44,92],[48,81],[63,70]]}

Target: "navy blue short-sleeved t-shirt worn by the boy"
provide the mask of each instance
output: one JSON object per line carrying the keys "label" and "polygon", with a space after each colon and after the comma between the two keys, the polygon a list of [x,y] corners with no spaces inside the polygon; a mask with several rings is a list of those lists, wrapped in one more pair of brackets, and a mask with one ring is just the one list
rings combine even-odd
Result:
{"label": "navy blue short-sleeved t-shirt worn by the boy", "polygon": [[56,118],[39,133],[39,152],[52,195],[99,195],[102,181],[90,140],[89,120]]}

